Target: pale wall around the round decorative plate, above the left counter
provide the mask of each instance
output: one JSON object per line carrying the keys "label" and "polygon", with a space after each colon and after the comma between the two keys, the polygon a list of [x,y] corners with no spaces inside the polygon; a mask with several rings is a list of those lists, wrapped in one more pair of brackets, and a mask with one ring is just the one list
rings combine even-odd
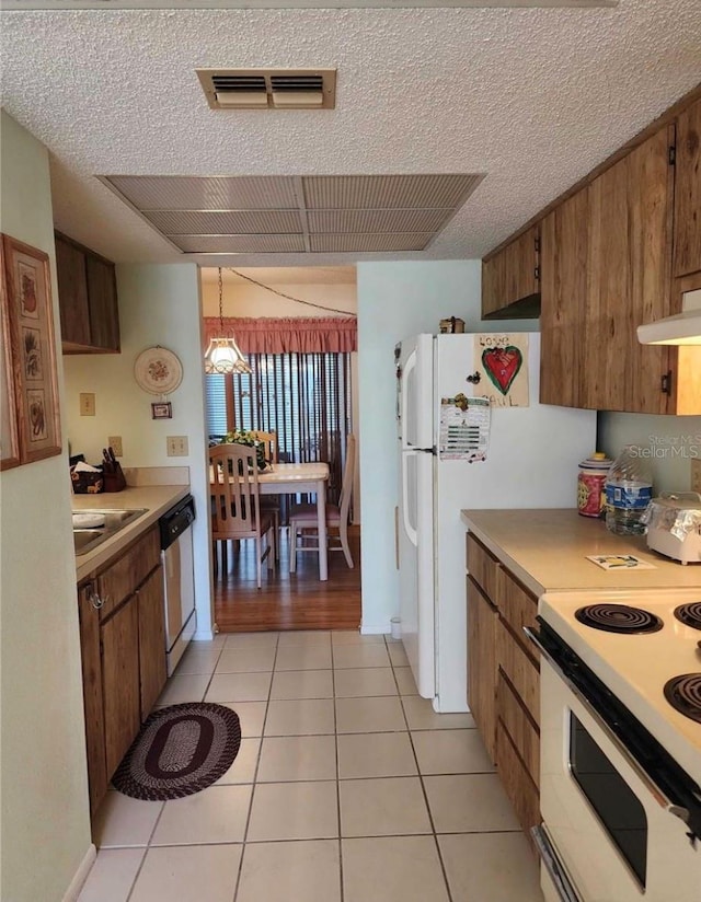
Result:
{"label": "pale wall around the round decorative plate, above the left counter", "polygon": [[[123,466],[188,466],[197,520],[194,527],[197,638],[211,635],[209,507],[205,440],[199,273],[194,264],[117,266],[122,354],[71,355],[66,372],[66,431],[71,452],[99,463],[107,436],[122,436]],[[134,363],[148,347],[172,350],[183,381],[168,401],[172,419],[151,419],[151,403],[134,379]],[[95,416],[81,417],[79,394],[94,392]],[[186,436],[187,456],[166,455],[166,436]],[[105,498],[108,496],[105,496]]]}

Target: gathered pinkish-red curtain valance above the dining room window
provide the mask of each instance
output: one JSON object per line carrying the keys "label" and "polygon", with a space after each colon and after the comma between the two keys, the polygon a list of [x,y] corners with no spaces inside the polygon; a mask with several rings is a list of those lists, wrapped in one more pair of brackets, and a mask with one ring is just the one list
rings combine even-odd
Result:
{"label": "gathered pinkish-red curtain valance above the dining room window", "polygon": [[[344,354],[357,349],[355,316],[223,317],[223,335],[234,335],[243,354]],[[218,316],[205,316],[206,344],[221,336]]]}

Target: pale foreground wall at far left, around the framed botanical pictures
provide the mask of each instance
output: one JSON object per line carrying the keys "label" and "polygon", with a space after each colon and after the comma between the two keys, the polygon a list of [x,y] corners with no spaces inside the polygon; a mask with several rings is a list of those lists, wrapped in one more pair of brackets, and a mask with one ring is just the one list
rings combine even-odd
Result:
{"label": "pale foreground wall at far left, around the framed botanical pictures", "polygon": [[[48,253],[58,344],[48,153],[0,116],[0,228]],[[58,902],[91,851],[66,453],[0,475],[0,898]]]}

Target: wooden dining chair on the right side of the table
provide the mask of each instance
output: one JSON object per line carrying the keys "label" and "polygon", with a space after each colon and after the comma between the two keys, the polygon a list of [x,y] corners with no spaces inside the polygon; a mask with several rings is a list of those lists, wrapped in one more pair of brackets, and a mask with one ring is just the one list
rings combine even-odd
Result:
{"label": "wooden dining chair on the right side of the table", "polygon": [[[348,516],[350,512],[350,496],[353,495],[353,481],[355,477],[356,440],[355,436],[348,436],[346,444],[346,465],[343,471],[343,483],[341,486],[341,497],[338,505],[326,505],[326,529],[338,530],[335,535],[327,532],[329,551],[342,551],[348,567],[353,569],[353,557],[348,545]],[[317,505],[295,505],[289,512],[289,571],[294,574],[297,569],[297,553],[319,551],[319,520],[317,517]],[[317,544],[308,544],[314,541]],[[332,544],[337,542],[338,544]]]}

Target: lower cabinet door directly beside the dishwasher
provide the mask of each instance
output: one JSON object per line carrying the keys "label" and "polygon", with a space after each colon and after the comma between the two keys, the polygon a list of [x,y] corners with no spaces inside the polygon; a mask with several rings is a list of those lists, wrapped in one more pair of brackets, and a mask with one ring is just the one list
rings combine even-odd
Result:
{"label": "lower cabinet door directly beside the dishwasher", "polygon": [[158,567],[138,589],[141,720],[151,713],[165,685],[165,611],[163,568]]}

